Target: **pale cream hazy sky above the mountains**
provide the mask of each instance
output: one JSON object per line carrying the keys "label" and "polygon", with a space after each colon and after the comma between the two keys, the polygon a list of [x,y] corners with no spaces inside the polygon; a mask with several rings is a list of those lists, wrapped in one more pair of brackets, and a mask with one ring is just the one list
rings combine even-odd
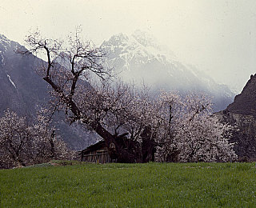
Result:
{"label": "pale cream hazy sky above the mountains", "polygon": [[58,38],[78,25],[96,44],[146,30],[182,61],[238,90],[256,73],[255,0],[0,0],[0,33],[22,44],[30,29]]}

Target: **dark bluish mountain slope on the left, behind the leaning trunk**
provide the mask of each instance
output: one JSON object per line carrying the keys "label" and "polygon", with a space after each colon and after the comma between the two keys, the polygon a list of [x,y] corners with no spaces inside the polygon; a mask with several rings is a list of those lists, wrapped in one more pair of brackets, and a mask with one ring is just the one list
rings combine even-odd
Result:
{"label": "dark bluish mountain slope on the left, behind the leaning trunk", "polygon": [[[17,54],[17,49],[25,50],[25,47],[0,34],[0,116],[9,108],[33,120],[38,107],[49,106],[50,102],[48,86],[36,73],[44,62],[32,54]],[[64,114],[55,115],[54,125],[74,150],[82,150],[95,142],[94,134],[81,126],[69,126]]]}

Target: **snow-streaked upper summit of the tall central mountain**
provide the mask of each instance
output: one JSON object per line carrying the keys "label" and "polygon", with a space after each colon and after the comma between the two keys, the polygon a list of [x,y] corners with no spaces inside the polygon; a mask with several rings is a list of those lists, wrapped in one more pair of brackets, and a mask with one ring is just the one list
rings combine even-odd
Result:
{"label": "snow-streaked upper summit of the tall central mountain", "polygon": [[169,62],[176,60],[170,50],[159,45],[152,35],[140,30],[136,30],[130,36],[116,34],[109,41],[103,42],[101,47],[106,50],[108,58],[120,57],[127,66],[126,70],[130,70],[129,62],[131,61],[141,64],[157,59],[158,62],[165,64],[167,60]]}

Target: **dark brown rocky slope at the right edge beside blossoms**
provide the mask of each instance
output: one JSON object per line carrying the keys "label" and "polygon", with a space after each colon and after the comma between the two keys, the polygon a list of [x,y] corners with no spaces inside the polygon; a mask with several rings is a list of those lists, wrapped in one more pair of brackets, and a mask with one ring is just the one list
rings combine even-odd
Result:
{"label": "dark brown rocky slope at the right edge beside blossoms", "polygon": [[217,113],[222,122],[235,126],[230,142],[241,159],[256,159],[256,74],[250,76],[242,93],[226,110]]}

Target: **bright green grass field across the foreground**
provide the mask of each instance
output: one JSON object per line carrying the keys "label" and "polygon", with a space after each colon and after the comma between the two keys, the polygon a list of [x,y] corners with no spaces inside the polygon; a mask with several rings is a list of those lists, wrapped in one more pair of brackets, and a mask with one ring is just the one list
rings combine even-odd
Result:
{"label": "bright green grass field across the foreground", "polygon": [[256,207],[254,163],[42,165],[0,187],[0,207]]}

